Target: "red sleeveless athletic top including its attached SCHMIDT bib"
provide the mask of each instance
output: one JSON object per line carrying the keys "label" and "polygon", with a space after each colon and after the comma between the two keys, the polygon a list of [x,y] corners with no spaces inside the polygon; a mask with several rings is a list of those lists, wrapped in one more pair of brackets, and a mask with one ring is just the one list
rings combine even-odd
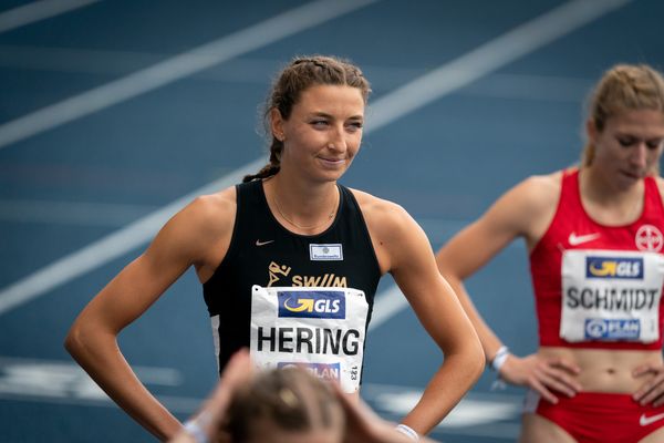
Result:
{"label": "red sleeveless athletic top including its attached SCHMIDT bib", "polygon": [[560,200],[530,254],[540,346],[662,349],[664,207],[646,177],[643,212],[626,226],[585,213],[579,171],[564,171]]}

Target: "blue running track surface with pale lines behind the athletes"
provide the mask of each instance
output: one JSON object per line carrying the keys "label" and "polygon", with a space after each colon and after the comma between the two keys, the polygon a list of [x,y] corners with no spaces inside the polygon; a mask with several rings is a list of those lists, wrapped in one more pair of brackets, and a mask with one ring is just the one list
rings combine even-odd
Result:
{"label": "blue running track surface with pale lines behind the athletes", "polygon": [[[373,83],[347,186],[392,199],[438,248],[508,187],[577,162],[583,103],[618,62],[664,68],[661,0],[0,1],[0,442],[149,442],[62,347],[77,312],[194,195],[264,161],[258,104],[295,54]],[[517,353],[536,348],[521,243],[468,281]],[[188,271],[120,337],[186,418],[215,384]],[[387,277],[363,396],[398,420],[442,354]],[[433,432],[510,442],[522,391],[487,371]]]}

